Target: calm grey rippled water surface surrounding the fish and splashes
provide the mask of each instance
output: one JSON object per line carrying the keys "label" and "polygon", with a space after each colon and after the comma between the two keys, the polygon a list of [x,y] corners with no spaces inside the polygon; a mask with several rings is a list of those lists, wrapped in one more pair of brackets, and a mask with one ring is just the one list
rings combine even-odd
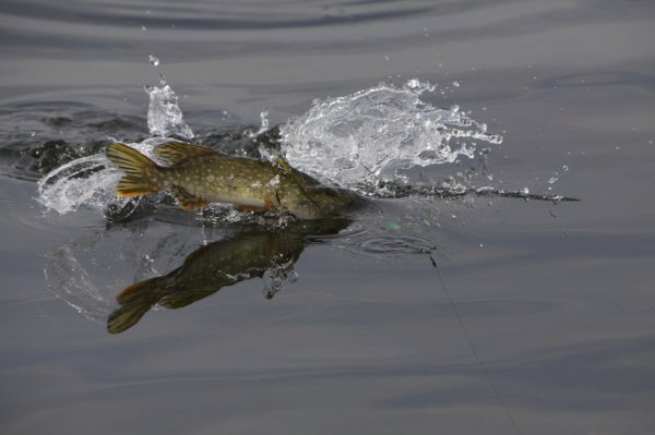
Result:
{"label": "calm grey rippled water surface surrounding the fish and splashes", "polygon": [[[2,0],[0,432],[654,433],[654,40],[638,0]],[[580,201],[377,198],[282,230],[48,210],[48,172],[148,137],[159,74],[216,146],[429,81],[504,137],[466,188]]]}

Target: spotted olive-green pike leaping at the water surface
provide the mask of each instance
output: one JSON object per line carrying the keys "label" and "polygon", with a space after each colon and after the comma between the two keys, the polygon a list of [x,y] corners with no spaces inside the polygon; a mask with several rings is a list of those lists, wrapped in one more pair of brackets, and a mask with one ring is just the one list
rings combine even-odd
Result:
{"label": "spotted olive-green pike leaping at the water surface", "polygon": [[167,191],[184,209],[228,203],[240,210],[275,210],[298,219],[338,215],[359,198],[352,191],[321,184],[283,159],[273,165],[181,141],[159,145],[155,154],[164,165],[128,145],[109,145],[107,157],[126,172],[118,195]]}

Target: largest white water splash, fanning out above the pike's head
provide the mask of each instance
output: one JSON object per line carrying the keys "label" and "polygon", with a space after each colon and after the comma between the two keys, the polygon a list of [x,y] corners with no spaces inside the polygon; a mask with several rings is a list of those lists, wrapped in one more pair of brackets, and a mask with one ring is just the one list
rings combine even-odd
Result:
{"label": "largest white water splash, fanning out above the pike's head", "polygon": [[474,141],[502,142],[458,106],[443,109],[424,101],[421,96],[436,87],[413,78],[401,87],[380,83],[314,100],[307,113],[281,128],[283,152],[291,166],[357,189],[381,181],[406,183],[403,170],[474,157]]}

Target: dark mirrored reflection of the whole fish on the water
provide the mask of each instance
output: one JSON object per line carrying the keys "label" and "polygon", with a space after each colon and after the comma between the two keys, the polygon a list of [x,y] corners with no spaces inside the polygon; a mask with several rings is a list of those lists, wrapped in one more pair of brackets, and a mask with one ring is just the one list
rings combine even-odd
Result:
{"label": "dark mirrored reflection of the whole fish on the water", "polygon": [[[335,234],[348,223],[345,218],[331,218],[294,221],[276,230],[248,228],[229,239],[206,244],[169,274],[122,290],[116,298],[120,307],[109,314],[107,330],[119,334],[129,329],[156,304],[180,309],[224,287],[262,278],[266,271],[289,274],[312,237]],[[266,297],[274,293],[275,289],[271,289]]]}

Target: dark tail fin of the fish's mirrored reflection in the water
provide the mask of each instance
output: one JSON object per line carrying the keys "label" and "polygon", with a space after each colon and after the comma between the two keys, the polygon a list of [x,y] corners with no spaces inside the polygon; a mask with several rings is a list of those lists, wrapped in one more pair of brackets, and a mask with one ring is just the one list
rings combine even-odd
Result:
{"label": "dark tail fin of the fish's mirrored reflection in the water", "polygon": [[121,305],[107,317],[107,330],[120,334],[136,325],[141,317],[157,303],[156,290],[160,277],[131,285],[116,297]]}

